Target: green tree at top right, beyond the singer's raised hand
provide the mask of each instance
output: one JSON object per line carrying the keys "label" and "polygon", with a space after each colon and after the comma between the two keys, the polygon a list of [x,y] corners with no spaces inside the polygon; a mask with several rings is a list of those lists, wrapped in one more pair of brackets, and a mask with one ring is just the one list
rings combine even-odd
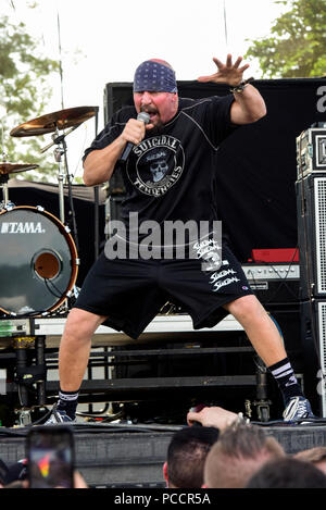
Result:
{"label": "green tree at top right, beyond the singer's raised hand", "polygon": [[249,47],[246,58],[259,60],[263,77],[326,75],[326,0],[283,0],[290,10],[275,20],[271,37]]}

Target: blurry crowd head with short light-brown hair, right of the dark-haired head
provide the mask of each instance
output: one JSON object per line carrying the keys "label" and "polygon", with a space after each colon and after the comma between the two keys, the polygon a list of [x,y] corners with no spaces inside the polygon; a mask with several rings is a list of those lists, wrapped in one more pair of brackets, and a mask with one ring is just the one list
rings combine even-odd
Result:
{"label": "blurry crowd head with short light-brown hair, right of the dark-haired head", "polygon": [[265,462],[285,456],[279,443],[255,425],[231,425],[220,436],[204,467],[205,488],[243,488]]}

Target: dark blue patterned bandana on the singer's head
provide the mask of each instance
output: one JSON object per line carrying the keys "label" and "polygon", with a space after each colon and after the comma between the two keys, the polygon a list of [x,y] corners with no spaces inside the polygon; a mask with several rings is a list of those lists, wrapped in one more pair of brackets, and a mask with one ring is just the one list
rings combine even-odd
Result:
{"label": "dark blue patterned bandana on the singer's head", "polygon": [[135,73],[134,92],[176,92],[175,72],[159,62],[147,60]]}

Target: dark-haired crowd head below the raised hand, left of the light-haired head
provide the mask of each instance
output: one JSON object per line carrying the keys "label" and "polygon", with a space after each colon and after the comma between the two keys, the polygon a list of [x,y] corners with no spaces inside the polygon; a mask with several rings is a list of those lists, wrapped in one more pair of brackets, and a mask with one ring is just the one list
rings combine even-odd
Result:
{"label": "dark-haired crowd head below the raised hand, left of the light-haired head", "polygon": [[212,445],[218,439],[215,427],[191,426],[177,431],[168,445],[163,474],[168,488],[200,488]]}

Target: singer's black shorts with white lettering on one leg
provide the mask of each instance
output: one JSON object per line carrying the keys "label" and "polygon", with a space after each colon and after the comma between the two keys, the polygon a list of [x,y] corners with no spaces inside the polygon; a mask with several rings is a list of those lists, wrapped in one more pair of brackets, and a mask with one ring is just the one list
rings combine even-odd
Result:
{"label": "singer's black shorts with white lettering on one leg", "polygon": [[212,327],[228,312],[222,308],[253,294],[240,263],[227,246],[222,265],[203,270],[201,260],[109,260],[102,252],[89,271],[74,308],[108,316],[103,324],[138,338],[167,302],[192,319],[193,328]]}

